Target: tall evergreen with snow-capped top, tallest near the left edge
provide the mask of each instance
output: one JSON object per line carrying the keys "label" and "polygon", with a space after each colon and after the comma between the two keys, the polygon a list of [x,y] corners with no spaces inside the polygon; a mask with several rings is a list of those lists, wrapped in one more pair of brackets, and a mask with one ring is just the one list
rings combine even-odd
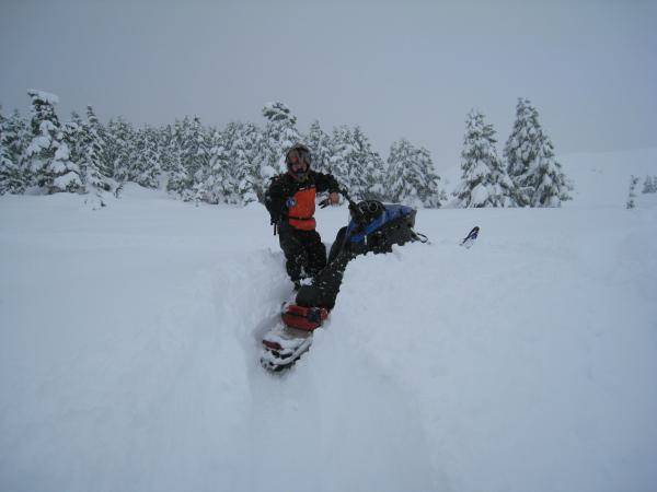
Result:
{"label": "tall evergreen with snow-capped top, tallest near the left edge", "polygon": [[36,185],[48,194],[79,191],[82,188],[80,169],[70,161],[55,105],[56,95],[43,91],[27,92],[32,98],[32,141],[26,150]]}

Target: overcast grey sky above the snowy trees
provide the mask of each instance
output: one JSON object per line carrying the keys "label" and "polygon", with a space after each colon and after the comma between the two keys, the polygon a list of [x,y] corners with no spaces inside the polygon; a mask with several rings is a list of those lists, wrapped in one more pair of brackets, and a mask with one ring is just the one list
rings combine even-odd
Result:
{"label": "overcast grey sky above the snowy trees", "polygon": [[0,0],[0,104],[27,89],[166,124],[262,124],[283,101],[306,131],[360,125],[383,157],[406,137],[439,169],[464,118],[506,141],[519,96],[557,153],[657,147],[657,1]]}

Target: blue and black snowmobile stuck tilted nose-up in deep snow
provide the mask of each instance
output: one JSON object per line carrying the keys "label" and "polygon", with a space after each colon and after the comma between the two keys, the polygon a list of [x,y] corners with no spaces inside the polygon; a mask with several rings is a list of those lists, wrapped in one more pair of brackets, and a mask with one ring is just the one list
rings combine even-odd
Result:
{"label": "blue and black snowmobile stuck tilted nose-up in deep snow", "polygon": [[[414,208],[378,200],[357,203],[345,190],[341,194],[349,203],[349,223],[338,231],[326,267],[310,285],[299,289],[293,302],[284,303],[280,320],[263,338],[261,363],[269,371],[290,367],[308,351],[313,330],[323,325],[335,305],[351,259],[370,251],[392,251],[393,245],[427,241],[413,229],[417,212]],[[324,200],[320,207],[327,204]]]}

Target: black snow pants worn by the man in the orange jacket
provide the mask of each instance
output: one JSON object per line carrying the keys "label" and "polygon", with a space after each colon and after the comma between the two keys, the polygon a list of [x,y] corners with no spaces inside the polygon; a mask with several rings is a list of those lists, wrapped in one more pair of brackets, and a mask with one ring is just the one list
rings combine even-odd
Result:
{"label": "black snow pants worn by the man in the orange jacket", "polygon": [[278,242],[292,282],[314,278],[326,266],[326,246],[316,231],[302,231],[281,222],[278,225]]}

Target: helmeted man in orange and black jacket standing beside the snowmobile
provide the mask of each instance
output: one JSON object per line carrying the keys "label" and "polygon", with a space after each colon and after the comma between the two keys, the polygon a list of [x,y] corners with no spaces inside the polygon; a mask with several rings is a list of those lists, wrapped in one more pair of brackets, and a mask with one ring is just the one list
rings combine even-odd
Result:
{"label": "helmeted man in orange and black jacket standing beside the snowmobile", "polygon": [[328,191],[328,202],[336,204],[339,185],[332,175],[310,168],[310,149],[301,143],[287,151],[285,162],[288,171],[272,179],[265,207],[278,230],[287,272],[298,289],[303,278],[314,277],[326,266],[326,247],[315,231],[315,195]]}

